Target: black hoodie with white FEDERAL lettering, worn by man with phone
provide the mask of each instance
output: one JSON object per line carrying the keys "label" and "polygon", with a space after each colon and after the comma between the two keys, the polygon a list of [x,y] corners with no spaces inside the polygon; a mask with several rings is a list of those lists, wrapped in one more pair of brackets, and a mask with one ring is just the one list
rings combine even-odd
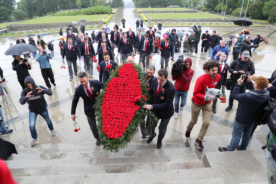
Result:
{"label": "black hoodie with white FEDERAL lettering, worn by man with phone", "polygon": [[[42,88],[43,91],[34,94],[33,96],[27,98],[27,94],[33,90],[30,90],[27,87],[27,83],[32,83],[33,84],[33,90],[35,90],[36,88]],[[24,105],[27,101],[29,104],[29,110],[31,112],[41,112],[44,111],[47,108],[47,102],[44,99],[44,94],[47,94],[49,96],[51,96],[53,94],[53,92],[51,90],[48,90],[47,88],[45,88],[44,86],[40,86],[40,85],[36,85],[36,83],[34,82],[33,78],[30,76],[27,76],[25,78],[25,89],[22,90],[21,92],[21,96],[19,99],[19,103],[21,105]]]}

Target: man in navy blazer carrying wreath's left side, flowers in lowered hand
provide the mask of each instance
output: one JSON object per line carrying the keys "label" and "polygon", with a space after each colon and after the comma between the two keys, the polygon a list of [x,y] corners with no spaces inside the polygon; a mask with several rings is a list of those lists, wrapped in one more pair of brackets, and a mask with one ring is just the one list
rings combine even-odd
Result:
{"label": "man in navy blazer carrying wreath's left side, flowers in lowered hand", "polygon": [[76,108],[79,102],[79,97],[81,97],[83,99],[84,113],[88,124],[92,130],[94,138],[97,140],[96,146],[100,146],[101,141],[99,140],[94,105],[96,103],[95,98],[100,94],[100,90],[104,86],[104,83],[98,80],[88,80],[88,76],[85,72],[80,72],[78,77],[81,84],[75,88],[75,94],[71,106],[71,119],[73,121],[76,119]]}

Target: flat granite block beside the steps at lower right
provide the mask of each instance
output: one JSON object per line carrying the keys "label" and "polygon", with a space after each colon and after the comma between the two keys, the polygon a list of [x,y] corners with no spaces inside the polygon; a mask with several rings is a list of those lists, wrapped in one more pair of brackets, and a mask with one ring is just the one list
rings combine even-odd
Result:
{"label": "flat granite block beside the steps at lower right", "polygon": [[264,150],[205,153],[203,160],[225,183],[267,182]]}

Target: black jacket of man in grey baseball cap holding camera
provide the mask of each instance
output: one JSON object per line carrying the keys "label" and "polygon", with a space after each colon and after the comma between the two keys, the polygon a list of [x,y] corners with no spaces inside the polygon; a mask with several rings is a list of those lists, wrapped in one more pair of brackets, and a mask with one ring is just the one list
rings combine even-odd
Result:
{"label": "black jacket of man in grey baseball cap holding camera", "polygon": [[[245,74],[248,72],[250,75],[254,75],[255,73],[255,67],[254,67],[254,63],[250,60],[250,58],[245,62],[243,68],[240,65],[240,61],[241,61],[241,57],[239,57],[236,61],[233,61],[231,63],[231,65],[229,66],[228,71],[231,74],[231,84],[236,84],[237,80],[240,78],[241,74],[234,74],[234,71],[240,71],[243,70],[245,72]],[[243,81],[243,84],[241,84],[241,86],[247,86],[247,80]]]}

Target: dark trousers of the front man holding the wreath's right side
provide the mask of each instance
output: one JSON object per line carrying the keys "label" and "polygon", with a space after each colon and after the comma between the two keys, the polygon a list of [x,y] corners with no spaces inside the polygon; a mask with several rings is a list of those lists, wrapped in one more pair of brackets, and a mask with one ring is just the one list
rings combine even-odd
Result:
{"label": "dark trousers of the front man holding the wreath's right side", "polygon": [[[171,118],[169,119],[161,119],[161,122],[159,124],[159,135],[158,135],[158,138],[157,138],[157,144],[158,143],[162,143],[162,140],[166,134],[166,131],[167,131],[167,126],[169,124],[169,121],[170,121]],[[158,119],[159,120],[159,119]],[[157,122],[155,122],[153,119],[151,120],[151,122],[149,122],[149,125],[148,125],[148,129],[151,130],[150,131],[150,136],[154,136],[155,135],[155,128],[157,126]]]}

